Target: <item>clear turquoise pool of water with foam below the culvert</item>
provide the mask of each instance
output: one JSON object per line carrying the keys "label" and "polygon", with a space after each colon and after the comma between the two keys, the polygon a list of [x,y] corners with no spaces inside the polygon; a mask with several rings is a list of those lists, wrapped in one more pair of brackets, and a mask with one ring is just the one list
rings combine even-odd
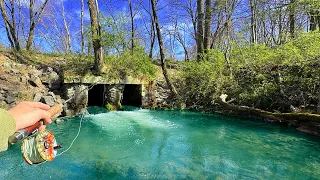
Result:
{"label": "clear turquoise pool of water with foam below the culvert", "polygon": [[[91,109],[52,162],[0,153],[0,179],[320,179],[320,140],[290,128],[196,112]],[[66,149],[79,117],[51,124]],[[61,152],[61,151],[60,151]]]}

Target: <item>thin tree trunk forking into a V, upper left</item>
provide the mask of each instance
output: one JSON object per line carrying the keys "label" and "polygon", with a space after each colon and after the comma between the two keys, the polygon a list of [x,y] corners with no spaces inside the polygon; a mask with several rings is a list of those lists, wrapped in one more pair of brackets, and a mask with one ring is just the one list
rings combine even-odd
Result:
{"label": "thin tree trunk forking into a V, upper left", "polygon": [[35,27],[38,24],[38,22],[40,20],[40,16],[41,16],[45,6],[48,3],[48,0],[45,0],[45,2],[41,5],[39,11],[34,12],[34,1],[35,0],[30,0],[30,6],[29,6],[30,28],[29,28],[29,36],[28,36],[27,46],[26,46],[27,51],[29,51],[32,47]]}

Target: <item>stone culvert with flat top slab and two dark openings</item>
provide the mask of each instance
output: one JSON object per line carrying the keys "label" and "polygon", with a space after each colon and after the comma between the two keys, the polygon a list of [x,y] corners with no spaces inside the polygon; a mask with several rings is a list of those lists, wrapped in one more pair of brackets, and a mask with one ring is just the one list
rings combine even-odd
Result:
{"label": "stone culvert with flat top slab and two dark openings", "polygon": [[65,78],[63,83],[65,99],[68,102],[65,112],[72,116],[90,106],[105,107],[107,104],[120,107],[136,106],[153,108],[155,106],[155,85],[153,81],[125,77],[109,80],[101,76]]}

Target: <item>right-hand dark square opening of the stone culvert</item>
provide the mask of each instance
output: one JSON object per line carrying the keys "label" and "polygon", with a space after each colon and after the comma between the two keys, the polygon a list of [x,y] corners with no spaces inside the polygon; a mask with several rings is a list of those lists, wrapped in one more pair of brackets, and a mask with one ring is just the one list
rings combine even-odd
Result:
{"label": "right-hand dark square opening of the stone culvert", "polygon": [[126,84],[123,90],[122,105],[141,106],[141,84]]}

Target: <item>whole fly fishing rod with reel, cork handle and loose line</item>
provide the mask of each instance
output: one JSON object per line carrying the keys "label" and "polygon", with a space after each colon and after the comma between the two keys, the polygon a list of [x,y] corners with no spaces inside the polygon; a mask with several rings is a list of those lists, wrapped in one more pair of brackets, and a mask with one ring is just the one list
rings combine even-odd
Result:
{"label": "whole fly fishing rod with reel, cork handle and loose line", "polygon": [[[74,97],[78,96],[85,90],[92,89],[98,83],[99,82],[96,82],[80,90],[79,92],[75,92],[71,98],[67,99],[62,104],[57,104],[50,107],[47,111],[50,113],[51,117],[54,117],[56,114],[59,114],[62,111],[63,106],[66,105],[69,101],[71,101]],[[53,133],[46,129],[39,131],[41,125],[45,124],[43,120],[36,122],[32,126],[16,131],[13,135],[9,137],[8,141],[10,144],[15,144],[18,141],[23,140],[21,143],[21,153],[24,160],[30,165],[41,164],[46,161],[52,161],[56,156],[65,153],[71,148],[71,146],[73,145],[74,141],[77,139],[80,133],[83,116],[81,117],[79,130],[74,140],[70,144],[69,148],[60,154],[57,154],[57,150],[62,148],[62,145],[57,144],[57,141]]]}

